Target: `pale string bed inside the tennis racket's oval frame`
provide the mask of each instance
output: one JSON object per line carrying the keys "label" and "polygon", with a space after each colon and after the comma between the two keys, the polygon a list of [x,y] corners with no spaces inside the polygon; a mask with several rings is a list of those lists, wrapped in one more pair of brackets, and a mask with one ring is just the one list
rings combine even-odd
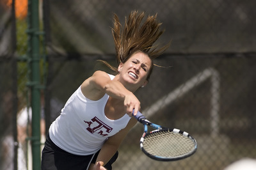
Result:
{"label": "pale string bed inside the tennis racket's oval frame", "polygon": [[176,132],[158,131],[145,136],[143,148],[150,155],[175,158],[188,155],[195,150],[195,142],[188,136]]}

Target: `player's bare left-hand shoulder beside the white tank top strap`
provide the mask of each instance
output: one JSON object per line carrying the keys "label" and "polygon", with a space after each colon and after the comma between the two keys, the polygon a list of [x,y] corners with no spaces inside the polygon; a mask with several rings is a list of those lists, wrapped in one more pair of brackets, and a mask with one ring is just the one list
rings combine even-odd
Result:
{"label": "player's bare left-hand shoulder beside the white tank top strap", "polygon": [[105,95],[104,86],[110,81],[108,73],[96,71],[81,84],[81,91],[90,100],[99,100]]}

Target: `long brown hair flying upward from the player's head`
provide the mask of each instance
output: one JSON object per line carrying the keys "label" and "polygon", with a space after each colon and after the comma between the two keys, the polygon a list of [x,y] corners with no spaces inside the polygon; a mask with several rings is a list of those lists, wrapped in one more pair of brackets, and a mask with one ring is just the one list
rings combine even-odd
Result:
{"label": "long brown hair flying upward from the player's head", "polygon": [[[156,19],[157,14],[153,16],[148,15],[147,19],[142,22],[144,17],[144,12],[139,13],[138,11],[132,11],[128,19],[125,17],[125,23],[122,27],[118,16],[114,13],[112,35],[115,43],[116,61],[118,65],[120,63],[125,63],[134,52],[144,52],[151,60],[153,60],[163,54],[164,50],[169,47],[169,43],[163,47],[154,45],[159,36],[164,32],[161,29],[162,23]],[[111,68],[111,70],[117,72],[117,68],[109,65],[106,61],[102,62]],[[149,76],[152,72],[152,68],[150,69]]]}

